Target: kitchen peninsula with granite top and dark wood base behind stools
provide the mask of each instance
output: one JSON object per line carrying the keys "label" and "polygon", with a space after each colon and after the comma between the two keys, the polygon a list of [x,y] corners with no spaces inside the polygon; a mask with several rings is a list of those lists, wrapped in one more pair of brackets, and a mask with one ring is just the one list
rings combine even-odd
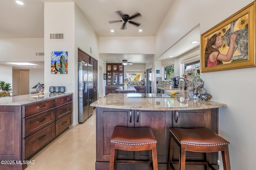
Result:
{"label": "kitchen peninsula with granite top and dark wood base behind stools", "polygon": [[[110,138],[115,126],[151,127],[157,140],[158,169],[167,170],[170,127],[207,127],[218,133],[218,108],[226,104],[190,100],[186,91],[171,98],[167,94],[108,94],[91,106],[96,107],[96,170],[108,170]],[[125,132],[124,132],[125,133]],[[174,160],[179,159],[175,146]],[[204,153],[189,152],[191,160],[204,160]],[[146,151],[118,150],[117,158],[148,159]],[[218,169],[218,153],[210,153],[210,163]],[[148,169],[148,164],[116,164],[117,170]],[[174,165],[178,169],[178,164]],[[204,170],[203,165],[188,169]]]}

